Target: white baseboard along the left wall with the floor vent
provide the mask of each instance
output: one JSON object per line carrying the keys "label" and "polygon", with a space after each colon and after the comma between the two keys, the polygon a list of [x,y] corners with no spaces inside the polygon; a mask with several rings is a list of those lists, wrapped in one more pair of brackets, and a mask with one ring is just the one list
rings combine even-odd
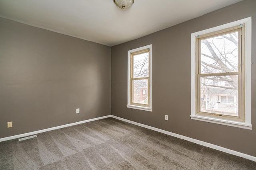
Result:
{"label": "white baseboard along the left wall with the floor vent", "polygon": [[43,132],[47,132],[47,131],[52,131],[52,130],[60,129],[60,128],[63,128],[63,127],[69,127],[69,126],[73,126],[73,125],[78,125],[78,124],[86,123],[86,122],[89,122],[89,121],[95,121],[95,120],[105,119],[105,118],[107,118],[107,117],[111,117],[111,115],[102,116],[102,117],[97,117],[97,118],[94,118],[94,119],[88,119],[88,120],[84,120],[84,121],[78,121],[78,122],[69,123],[69,124],[66,124],[66,125],[60,125],[60,126],[56,126],[56,127],[51,127],[51,128],[42,129],[42,130],[39,130],[39,131],[34,131],[34,132],[29,132],[29,133],[23,133],[23,134],[20,134],[20,135],[14,135],[14,136],[10,136],[10,137],[4,137],[4,138],[0,138],[0,142],[2,142],[2,141],[8,141],[8,140],[11,140],[11,139],[17,139],[17,138],[21,138],[21,137],[26,137],[26,136],[30,136],[30,135],[35,135],[35,134],[43,133]]}

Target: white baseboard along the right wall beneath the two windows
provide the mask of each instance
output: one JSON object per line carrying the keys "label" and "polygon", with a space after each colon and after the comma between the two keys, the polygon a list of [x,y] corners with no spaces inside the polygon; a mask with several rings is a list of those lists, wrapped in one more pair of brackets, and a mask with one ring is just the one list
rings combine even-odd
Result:
{"label": "white baseboard along the right wall beneath the two windows", "polygon": [[220,146],[217,146],[217,145],[213,145],[211,143],[207,143],[207,142],[204,142],[204,141],[199,141],[197,139],[193,139],[193,138],[190,138],[190,137],[186,137],[186,136],[183,136],[183,135],[179,135],[179,134],[176,134],[176,133],[172,133],[172,132],[169,132],[169,131],[165,131],[165,130],[162,130],[162,129],[158,129],[156,127],[151,127],[151,126],[148,126],[148,125],[144,125],[144,124],[141,124],[141,123],[137,123],[135,121],[130,121],[130,120],[127,120],[127,119],[124,119],[124,118],[121,118],[121,117],[117,117],[117,116],[114,116],[114,115],[111,115],[111,117],[115,118],[115,119],[118,119],[118,120],[121,120],[121,121],[125,121],[125,122],[128,122],[128,123],[132,123],[134,125],[138,125],[138,126],[141,126],[141,127],[145,127],[147,129],[151,129],[153,131],[158,131],[158,132],[161,132],[161,133],[164,133],[166,135],[170,135],[170,136],[173,136],[173,137],[177,137],[177,138],[180,138],[180,139],[184,139],[186,141],[190,141],[190,142],[193,142],[193,143],[196,143],[196,144],[199,144],[199,145],[203,145],[205,147],[209,147],[209,148],[212,148],[212,149],[216,149],[216,150],[220,150],[222,152],[226,152],[226,153],[229,153],[229,154],[233,154],[233,155],[236,155],[236,156],[240,156],[242,158],[246,158],[246,159],[249,159],[249,160],[252,160],[252,161],[255,161],[256,162],[256,157],[254,156],[251,156],[251,155],[248,155],[248,154],[244,154],[244,153],[241,153],[241,152],[237,152],[237,151],[234,151],[234,150],[231,150],[231,149],[226,149],[224,147],[220,147]]}

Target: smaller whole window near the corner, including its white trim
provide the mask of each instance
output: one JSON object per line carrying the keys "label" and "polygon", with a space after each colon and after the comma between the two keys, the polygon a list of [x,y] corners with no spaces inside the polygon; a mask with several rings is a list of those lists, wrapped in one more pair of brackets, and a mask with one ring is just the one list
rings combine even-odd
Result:
{"label": "smaller whole window near the corner, including its white trim", "polygon": [[128,51],[128,108],[152,111],[152,45]]}

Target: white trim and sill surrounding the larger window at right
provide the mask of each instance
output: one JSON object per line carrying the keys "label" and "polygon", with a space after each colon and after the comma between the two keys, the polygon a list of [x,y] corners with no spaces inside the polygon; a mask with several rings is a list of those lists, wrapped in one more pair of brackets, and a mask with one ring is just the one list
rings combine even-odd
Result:
{"label": "white trim and sill surrounding the larger window at right", "polygon": [[[202,35],[210,33],[213,31],[218,31],[228,27],[240,25],[242,23],[246,24],[245,27],[245,122],[230,121],[225,119],[217,119],[214,117],[207,117],[196,114],[196,37],[197,35]],[[240,127],[243,129],[252,130],[252,17],[244,18],[242,20],[234,21],[210,29],[205,29],[191,34],[191,119],[206,121],[210,123],[217,123],[221,125],[228,125],[233,127]]]}

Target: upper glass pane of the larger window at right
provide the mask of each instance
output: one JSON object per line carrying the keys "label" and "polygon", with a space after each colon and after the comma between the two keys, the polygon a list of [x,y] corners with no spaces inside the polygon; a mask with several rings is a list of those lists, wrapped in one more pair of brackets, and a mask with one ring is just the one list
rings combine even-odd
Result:
{"label": "upper glass pane of the larger window at right", "polygon": [[238,71],[238,31],[200,42],[202,74]]}

